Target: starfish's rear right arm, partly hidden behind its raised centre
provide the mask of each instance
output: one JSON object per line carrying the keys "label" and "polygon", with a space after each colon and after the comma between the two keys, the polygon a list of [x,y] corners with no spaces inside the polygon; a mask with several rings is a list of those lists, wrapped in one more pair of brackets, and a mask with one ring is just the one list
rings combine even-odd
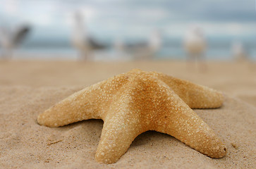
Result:
{"label": "starfish's rear right arm, partly hidden behind its raised centre", "polygon": [[223,104],[223,94],[215,89],[194,84],[187,80],[180,80],[163,73],[153,74],[171,87],[190,108],[218,108]]}

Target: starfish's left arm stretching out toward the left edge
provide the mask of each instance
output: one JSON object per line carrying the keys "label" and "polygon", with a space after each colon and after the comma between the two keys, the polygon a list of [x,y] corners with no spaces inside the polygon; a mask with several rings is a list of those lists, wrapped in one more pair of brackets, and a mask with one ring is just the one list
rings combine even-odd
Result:
{"label": "starfish's left arm stretching out toward the left edge", "polygon": [[95,100],[92,99],[90,90],[90,87],[87,87],[68,96],[68,98],[38,115],[37,122],[39,125],[59,127],[80,120],[99,118],[97,106],[95,106]]}

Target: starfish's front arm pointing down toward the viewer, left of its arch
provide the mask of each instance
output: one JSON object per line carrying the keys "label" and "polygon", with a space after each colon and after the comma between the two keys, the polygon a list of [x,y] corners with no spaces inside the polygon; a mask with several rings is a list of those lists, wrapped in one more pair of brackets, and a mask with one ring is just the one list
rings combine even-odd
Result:
{"label": "starfish's front arm pointing down toward the viewer, left of its arch", "polygon": [[104,118],[101,139],[95,154],[99,163],[116,163],[126,153],[135,137],[145,132],[140,114],[134,113],[123,96],[114,103]]}

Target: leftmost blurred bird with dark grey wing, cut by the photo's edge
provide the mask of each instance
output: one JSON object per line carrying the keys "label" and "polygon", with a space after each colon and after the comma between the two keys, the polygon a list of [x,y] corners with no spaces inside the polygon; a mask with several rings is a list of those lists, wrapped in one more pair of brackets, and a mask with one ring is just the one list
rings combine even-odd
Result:
{"label": "leftmost blurred bird with dark grey wing, cut by the photo's edge", "polygon": [[20,25],[14,27],[13,30],[9,27],[0,26],[0,46],[4,53],[2,57],[11,58],[13,49],[24,41],[30,30],[28,25]]}

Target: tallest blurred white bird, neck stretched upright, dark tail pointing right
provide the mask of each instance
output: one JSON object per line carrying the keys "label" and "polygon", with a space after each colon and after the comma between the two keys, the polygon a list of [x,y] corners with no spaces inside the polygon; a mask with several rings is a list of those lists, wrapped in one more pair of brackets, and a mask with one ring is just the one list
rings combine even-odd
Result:
{"label": "tallest blurred white bird, neck stretched upright, dark tail pointing right", "polygon": [[92,51],[96,49],[105,49],[107,46],[99,44],[90,37],[86,27],[83,15],[77,11],[74,15],[74,32],[71,37],[71,42],[78,51],[80,51],[80,58],[84,61],[92,60]]}

